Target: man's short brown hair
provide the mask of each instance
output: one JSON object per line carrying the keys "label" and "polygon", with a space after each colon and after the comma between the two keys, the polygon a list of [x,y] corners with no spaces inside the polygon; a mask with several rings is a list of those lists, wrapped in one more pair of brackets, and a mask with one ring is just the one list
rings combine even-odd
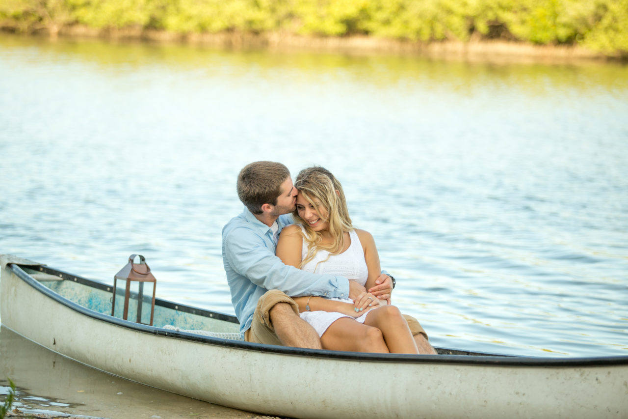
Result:
{"label": "man's short brown hair", "polygon": [[237,177],[237,196],[254,214],[261,214],[263,204],[277,204],[281,184],[290,170],[281,163],[253,162],[244,166]]}

